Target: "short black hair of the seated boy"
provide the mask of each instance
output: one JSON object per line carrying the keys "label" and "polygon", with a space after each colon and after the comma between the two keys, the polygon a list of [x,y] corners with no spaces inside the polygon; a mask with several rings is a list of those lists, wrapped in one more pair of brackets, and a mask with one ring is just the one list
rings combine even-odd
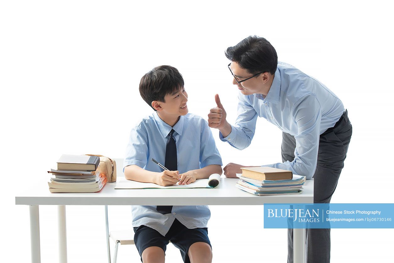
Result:
{"label": "short black hair of the seated boy", "polygon": [[177,92],[184,85],[183,77],[178,69],[162,65],[143,75],[139,82],[139,94],[152,107],[152,101],[165,102],[165,95]]}

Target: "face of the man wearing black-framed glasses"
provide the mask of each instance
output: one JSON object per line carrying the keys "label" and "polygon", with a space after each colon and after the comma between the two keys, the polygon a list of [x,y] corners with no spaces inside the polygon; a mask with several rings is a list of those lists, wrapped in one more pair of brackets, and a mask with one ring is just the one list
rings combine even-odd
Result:
{"label": "face of the man wearing black-framed glasses", "polygon": [[[237,78],[238,81],[244,80],[253,76],[253,74],[247,72],[246,69],[242,69],[237,62],[231,62],[230,69],[234,76]],[[238,90],[241,91],[243,95],[252,95],[255,93],[260,93],[261,90],[264,88],[264,75],[268,74],[267,72],[262,73],[254,78],[245,80],[238,84],[235,78],[232,78],[232,84],[237,85]]]}

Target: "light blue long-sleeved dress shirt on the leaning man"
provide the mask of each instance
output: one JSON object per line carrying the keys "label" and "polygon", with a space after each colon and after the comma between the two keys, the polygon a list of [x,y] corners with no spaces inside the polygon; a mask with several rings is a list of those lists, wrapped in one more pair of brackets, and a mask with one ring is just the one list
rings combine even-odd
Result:
{"label": "light blue long-sleeved dress shirt on the leaning man", "polygon": [[[222,141],[245,149],[255,135],[256,119],[262,117],[296,138],[294,161],[268,164],[311,179],[318,156],[319,137],[344,113],[344,105],[324,84],[292,65],[278,62],[271,88],[262,94],[238,95],[238,118]],[[269,138],[267,138],[269,139]]]}

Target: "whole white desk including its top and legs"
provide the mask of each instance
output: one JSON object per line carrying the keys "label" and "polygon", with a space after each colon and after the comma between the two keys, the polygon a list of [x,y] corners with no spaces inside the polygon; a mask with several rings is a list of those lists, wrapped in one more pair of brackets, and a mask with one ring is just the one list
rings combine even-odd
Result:
{"label": "whole white desk including its top and legs", "polygon": [[[302,194],[255,196],[235,187],[238,179],[221,178],[213,189],[114,189],[108,183],[97,193],[50,193],[46,181],[15,197],[17,205],[30,205],[30,241],[32,263],[41,261],[39,205],[59,205],[60,262],[67,262],[64,205],[264,205],[264,203],[313,203],[313,180],[304,185]],[[294,263],[305,262],[305,231],[294,229]]]}

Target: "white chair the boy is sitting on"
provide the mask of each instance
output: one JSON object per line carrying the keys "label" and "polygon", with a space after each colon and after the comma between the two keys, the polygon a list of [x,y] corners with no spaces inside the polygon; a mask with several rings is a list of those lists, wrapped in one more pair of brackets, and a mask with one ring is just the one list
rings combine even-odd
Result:
{"label": "white chair the boy is sitting on", "polygon": [[[116,174],[117,176],[124,176],[123,174],[123,159],[115,159],[116,162]],[[107,234],[107,252],[108,252],[108,263],[111,263],[111,252],[110,252],[110,238],[115,242],[115,253],[113,255],[113,263],[116,263],[118,255],[118,246],[121,245],[134,245],[134,230],[121,230],[111,231],[108,229],[108,206],[105,205],[105,225]]]}

